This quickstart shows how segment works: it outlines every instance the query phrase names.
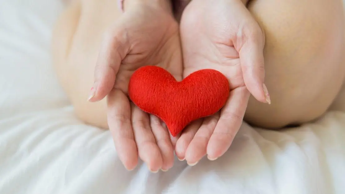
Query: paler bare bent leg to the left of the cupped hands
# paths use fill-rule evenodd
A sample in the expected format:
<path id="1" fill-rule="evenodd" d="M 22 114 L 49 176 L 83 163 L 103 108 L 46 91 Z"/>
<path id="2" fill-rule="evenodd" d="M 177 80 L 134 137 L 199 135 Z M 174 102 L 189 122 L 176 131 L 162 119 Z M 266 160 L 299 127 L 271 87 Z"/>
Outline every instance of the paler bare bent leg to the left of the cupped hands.
<path id="1" fill-rule="evenodd" d="M 115 0 L 75 0 L 53 32 L 53 58 L 63 89 L 77 116 L 102 128 L 108 128 L 106 99 L 90 103 L 87 98 L 103 33 L 120 14 Z"/>

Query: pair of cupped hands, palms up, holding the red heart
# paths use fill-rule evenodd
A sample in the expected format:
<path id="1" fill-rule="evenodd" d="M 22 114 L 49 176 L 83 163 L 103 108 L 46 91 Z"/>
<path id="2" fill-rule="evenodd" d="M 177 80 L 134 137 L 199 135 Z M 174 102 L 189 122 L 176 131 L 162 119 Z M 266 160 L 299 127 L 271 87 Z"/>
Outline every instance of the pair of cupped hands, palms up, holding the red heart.
<path id="1" fill-rule="evenodd" d="M 139 156 L 150 171 L 167 171 L 174 150 L 189 165 L 205 155 L 215 160 L 227 151 L 242 124 L 250 93 L 270 103 L 263 84 L 264 35 L 242 1 L 193 0 L 180 26 L 169 2 L 158 1 L 125 4 L 126 11 L 105 35 L 89 99 L 107 96 L 109 129 L 128 170 L 136 167 Z M 229 99 L 215 115 L 171 137 L 162 121 L 128 99 L 130 76 L 145 65 L 158 65 L 178 81 L 200 69 L 218 70 L 230 83 Z"/>

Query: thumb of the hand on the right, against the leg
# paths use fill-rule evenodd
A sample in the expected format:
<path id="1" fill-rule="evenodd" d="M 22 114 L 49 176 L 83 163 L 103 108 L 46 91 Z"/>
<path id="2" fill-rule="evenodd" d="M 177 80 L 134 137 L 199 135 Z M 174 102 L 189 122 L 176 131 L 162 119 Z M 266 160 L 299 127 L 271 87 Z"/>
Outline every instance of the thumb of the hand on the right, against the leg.
<path id="1" fill-rule="evenodd" d="M 247 89 L 258 101 L 270 104 L 267 87 L 264 84 L 264 38 L 260 28 L 248 32 L 239 50 L 244 82 Z"/>

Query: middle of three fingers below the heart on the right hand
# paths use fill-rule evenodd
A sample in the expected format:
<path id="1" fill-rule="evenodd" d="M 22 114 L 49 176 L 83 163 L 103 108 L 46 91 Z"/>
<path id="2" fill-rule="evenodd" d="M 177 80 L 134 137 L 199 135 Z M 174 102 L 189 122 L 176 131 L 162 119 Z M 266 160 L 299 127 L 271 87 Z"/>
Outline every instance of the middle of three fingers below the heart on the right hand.
<path id="1" fill-rule="evenodd" d="M 219 112 L 204 119 L 203 124 L 200 126 L 194 135 L 193 140 L 188 145 L 185 154 L 188 165 L 196 165 L 199 160 L 206 155 L 207 144 L 217 125 L 218 119 Z"/>

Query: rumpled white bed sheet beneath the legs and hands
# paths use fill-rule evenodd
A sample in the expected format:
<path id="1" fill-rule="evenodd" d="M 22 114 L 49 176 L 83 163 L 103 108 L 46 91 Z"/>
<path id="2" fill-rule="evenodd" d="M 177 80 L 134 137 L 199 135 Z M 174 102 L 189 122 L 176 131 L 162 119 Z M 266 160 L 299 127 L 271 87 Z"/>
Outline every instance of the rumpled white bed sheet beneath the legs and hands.
<path id="1" fill-rule="evenodd" d="M 345 113 L 283 132 L 243 124 L 229 151 L 127 172 L 109 131 L 74 116 L 53 73 L 58 0 L 0 0 L 1 194 L 344 194 Z"/>

